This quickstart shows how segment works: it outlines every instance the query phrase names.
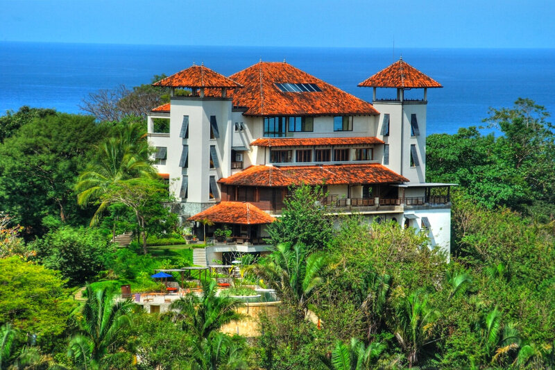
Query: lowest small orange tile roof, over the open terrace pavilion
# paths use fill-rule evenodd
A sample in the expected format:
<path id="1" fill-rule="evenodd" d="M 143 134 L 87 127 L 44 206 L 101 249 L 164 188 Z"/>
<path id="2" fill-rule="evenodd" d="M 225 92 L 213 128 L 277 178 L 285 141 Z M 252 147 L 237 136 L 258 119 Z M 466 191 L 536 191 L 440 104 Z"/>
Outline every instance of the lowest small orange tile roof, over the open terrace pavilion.
<path id="1" fill-rule="evenodd" d="M 203 212 L 189 217 L 188 221 L 210 219 L 219 224 L 271 224 L 275 218 L 268 215 L 255 205 L 244 202 L 221 202 Z"/>

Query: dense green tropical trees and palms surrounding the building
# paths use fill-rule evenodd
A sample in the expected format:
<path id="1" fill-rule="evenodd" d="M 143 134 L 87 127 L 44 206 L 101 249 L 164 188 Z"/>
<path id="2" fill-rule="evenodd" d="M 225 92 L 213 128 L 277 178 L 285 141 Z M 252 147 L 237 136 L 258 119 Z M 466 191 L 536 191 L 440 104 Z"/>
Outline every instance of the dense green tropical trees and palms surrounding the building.
<path id="1" fill-rule="evenodd" d="M 110 121 L 28 107 L 0 117 L 0 369 L 555 367 L 555 133 L 543 107 L 518 99 L 486 128 L 428 137 L 427 180 L 459 183 L 450 255 L 411 228 L 329 217 L 323 188 L 300 186 L 270 227 L 273 251 L 239 258 L 247 283 L 220 294 L 196 274 L 196 294 L 146 314 L 120 285 L 161 289 L 153 271 L 191 265 L 192 252 L 169 246 L 185 241 L 133 117 L 146 89 L 133 91 Z M 123 232 L 133 242 L 114 244 Z M 223 333 L 245 319 L 232 295 L 255 284 L 280 305 L 259 314 L 257 337 Z"/>

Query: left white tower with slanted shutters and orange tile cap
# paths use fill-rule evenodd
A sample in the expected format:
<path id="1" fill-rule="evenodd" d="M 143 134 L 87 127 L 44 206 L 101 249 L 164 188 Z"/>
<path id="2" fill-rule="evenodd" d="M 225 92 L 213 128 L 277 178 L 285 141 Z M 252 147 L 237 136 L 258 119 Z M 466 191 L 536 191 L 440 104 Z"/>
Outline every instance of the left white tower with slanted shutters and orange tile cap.
<path id="1" fill-rule="evenodd" d="M 194 215 L 220 200 L 217 181 L 231 175 L 232 101 L 228 90 L 241 87 L 204 65 L 192 65 L 157 81 L 170 87 L 169 104 L 148 119 L 157 167 L 170 181 L 180 212 Z M 176 89 L 190 90 L 176 96 Z M 156 119 L 169 119 L 169 132 L 157 133 Z"/>

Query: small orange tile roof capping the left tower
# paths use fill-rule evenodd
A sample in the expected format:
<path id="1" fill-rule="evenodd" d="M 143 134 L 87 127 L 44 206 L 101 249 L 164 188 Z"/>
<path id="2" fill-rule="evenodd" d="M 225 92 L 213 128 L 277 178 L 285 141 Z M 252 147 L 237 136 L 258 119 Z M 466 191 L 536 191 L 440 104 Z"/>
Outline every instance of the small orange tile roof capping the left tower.
<path id="1" fill-rule="evenodd" d="M 153 83 L 153 86 L 167 87 L 228 87 L 230 89 L 241 87 L 239 83 L 230 78 L 212 71 L 204 65 L 192 65 L 187 69 L 163 78 Z"/>

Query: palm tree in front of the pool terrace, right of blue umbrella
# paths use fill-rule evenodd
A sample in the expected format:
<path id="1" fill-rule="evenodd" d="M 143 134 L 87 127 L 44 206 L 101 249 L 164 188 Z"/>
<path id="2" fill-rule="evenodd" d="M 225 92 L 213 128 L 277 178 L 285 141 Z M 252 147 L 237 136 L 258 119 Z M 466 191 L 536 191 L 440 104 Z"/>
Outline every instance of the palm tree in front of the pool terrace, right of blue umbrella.
<path id="1" fill-rule="evenodd" d="M 231 321 L 243 318 L 235 309 L 241 305 L 237 299 L 216 295 L 216 281 L 203 283 L 202 296 L 189 293 L 170 305 L 174 321 L 181 321 L 184 330 L 189 329 L 196 339 L 207 339 L 211 333 Z"/>

